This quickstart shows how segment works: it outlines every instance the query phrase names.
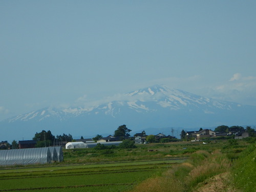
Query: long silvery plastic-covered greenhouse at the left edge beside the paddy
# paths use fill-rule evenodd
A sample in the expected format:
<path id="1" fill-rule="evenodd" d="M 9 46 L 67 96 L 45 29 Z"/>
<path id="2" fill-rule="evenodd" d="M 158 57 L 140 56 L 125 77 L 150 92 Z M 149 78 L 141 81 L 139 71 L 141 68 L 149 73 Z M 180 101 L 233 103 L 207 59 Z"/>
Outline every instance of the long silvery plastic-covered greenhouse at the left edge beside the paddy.
<path id="1" fill-rule="evenodd" d="M 51 160 L 49 147 L 0 151 L 0 165 L 43 164 L 51 163 Z"/>

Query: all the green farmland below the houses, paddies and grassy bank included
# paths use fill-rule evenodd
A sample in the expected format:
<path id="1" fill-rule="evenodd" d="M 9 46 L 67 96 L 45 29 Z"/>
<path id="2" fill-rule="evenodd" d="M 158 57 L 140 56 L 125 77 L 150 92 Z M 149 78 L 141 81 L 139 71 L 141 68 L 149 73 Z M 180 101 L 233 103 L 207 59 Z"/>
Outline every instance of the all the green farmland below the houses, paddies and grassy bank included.
<path id="1" fill-rule="evenodd" d="M 225 178 L 218 184 L 222 188 L 216 184 L 213 191 L 250 191 L 250 186 L 239 188 L 254 182 L 254 143 L 223 140 L 64 150 L 65 162 L 1 167 L 0 191 L 204 191 L 210 179 L 218 177 Z M 241 168 L 247 181 L 241 174 L 239 179 L 233 176 Z"/>

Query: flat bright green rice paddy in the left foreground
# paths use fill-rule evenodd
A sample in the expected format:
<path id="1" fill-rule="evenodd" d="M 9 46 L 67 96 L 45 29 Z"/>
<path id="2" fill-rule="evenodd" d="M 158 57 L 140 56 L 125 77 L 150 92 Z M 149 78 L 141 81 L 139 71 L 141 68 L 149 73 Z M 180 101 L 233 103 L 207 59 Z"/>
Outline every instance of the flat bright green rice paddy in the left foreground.
<path id="1" fill-rule="evenodd" d="M 0 191 L 123 191 L 183 159 L 0 169 Z"/>

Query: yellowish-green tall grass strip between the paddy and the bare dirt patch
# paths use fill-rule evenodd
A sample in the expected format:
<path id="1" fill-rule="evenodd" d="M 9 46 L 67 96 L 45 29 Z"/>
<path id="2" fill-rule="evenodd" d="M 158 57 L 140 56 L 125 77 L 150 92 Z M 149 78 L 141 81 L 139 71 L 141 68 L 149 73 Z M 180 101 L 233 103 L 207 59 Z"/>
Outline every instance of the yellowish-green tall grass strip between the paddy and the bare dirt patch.
<path id="1" fill-rule="evenodd" d="M 225 173 L 229 168 L 230 160 L 219 151 L 197 151 L 185 163 L 168 169 L 161 176 L 145 180 L 132 191 L 193 191 L 198 183 Z"/>

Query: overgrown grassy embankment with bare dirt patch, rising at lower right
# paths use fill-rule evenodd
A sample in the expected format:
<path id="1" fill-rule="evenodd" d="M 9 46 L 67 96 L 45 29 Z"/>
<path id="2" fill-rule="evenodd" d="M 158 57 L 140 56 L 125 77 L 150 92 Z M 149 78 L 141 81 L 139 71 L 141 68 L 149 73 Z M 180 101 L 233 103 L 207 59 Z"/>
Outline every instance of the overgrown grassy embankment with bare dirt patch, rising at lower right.
<path id="1" fill-rule="evenodd" d="M 184 163 L 144 180 L 130 192 L 256 191 L 256 145 L 230 143 L 213 152 L 199 150 Z"/>

